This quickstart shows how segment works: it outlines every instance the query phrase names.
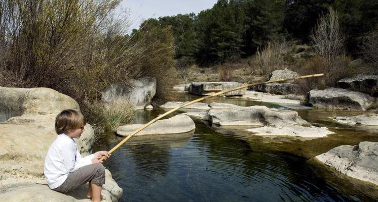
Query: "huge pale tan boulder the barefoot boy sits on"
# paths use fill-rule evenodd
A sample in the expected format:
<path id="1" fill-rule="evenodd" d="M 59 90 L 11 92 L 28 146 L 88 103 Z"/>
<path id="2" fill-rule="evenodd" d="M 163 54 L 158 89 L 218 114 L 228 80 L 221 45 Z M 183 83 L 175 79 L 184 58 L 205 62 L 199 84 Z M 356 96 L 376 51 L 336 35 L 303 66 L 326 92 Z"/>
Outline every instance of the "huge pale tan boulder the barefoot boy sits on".
<path id="1" fill-rule="evenodd" d="M 0 114 L 10 117 L 0 123 L 0 192 L 7 201 L 61 201 L 66 197 L 47 187 L 43 175 L 45 157 L 56 139 L 55 117 L 63 109 L 80 110 L 75 100 L 48 88 L 0 88 Z M 11 102 L 8 104 L 8 102 Z M 87 124 L 80 139 L 75 139 L 83 156 L 92 153 L 94 131 Z M 122 189 L 106 176 L 104 193 L 117 201 Z M 35 182 L 42 183 L 36 184 Z M 39 191 L 44 192 L 38 195 Z M 85 196 L 87 189 L 79 191 Z M 120 194 L 121 191 L 121 194 Z M 58 194 L 57 194 L 58 193 Z M 56 198 L 55 198 L 56 197 Z M 109 197 L 110 198 L 110 197 Z M 68 201 L 78 199 L 69 198 Z"/>

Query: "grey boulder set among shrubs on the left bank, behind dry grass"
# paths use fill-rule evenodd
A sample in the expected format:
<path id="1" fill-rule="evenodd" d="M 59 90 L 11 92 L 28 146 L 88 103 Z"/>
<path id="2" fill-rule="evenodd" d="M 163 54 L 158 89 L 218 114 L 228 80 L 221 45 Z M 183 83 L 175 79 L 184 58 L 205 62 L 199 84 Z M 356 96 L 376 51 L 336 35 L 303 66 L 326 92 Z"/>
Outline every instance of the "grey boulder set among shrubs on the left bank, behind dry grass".
<path id="1" fill-rule="evenodd" d="M 141 77 L 138 79 L 129 79 L 127 83 L 117 83 L 101 93 L 102 100 L 109 103 L 112 100 L 127 99 L 135 106 L 134 109 L 144 109 L 156 93 L 156 78 Z"/>

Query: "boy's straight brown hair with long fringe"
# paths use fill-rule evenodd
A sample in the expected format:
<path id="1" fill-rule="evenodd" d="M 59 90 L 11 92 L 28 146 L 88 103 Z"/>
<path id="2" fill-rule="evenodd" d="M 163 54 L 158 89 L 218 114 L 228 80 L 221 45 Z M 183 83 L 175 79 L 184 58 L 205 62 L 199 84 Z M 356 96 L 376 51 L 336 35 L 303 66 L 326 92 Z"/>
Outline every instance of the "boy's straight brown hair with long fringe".
<path id="1" fill-rule="evenodd" d="M 56 116 L 55 131 L 59 135 L 67 133 L 68 130 L 82 128 L 87 124 L 87 120 L 82 113 L 76 110 L 63 110 Z"/>

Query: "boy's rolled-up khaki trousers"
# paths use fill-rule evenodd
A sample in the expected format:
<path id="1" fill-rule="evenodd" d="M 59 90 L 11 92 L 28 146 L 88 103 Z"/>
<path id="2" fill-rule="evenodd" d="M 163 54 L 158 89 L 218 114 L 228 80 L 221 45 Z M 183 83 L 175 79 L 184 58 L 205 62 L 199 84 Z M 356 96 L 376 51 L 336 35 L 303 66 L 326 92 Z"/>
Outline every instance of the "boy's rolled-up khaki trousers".
<path id="1" fill-rule="evenodd" d="M 105 168 L 102 164 L 97 163 L 83 166 L 72 173 L 68 173 L 68 177 L 63 184 L 53 190 L 67 193 L 87 182 L 100 186 L 105 183 Z"/>

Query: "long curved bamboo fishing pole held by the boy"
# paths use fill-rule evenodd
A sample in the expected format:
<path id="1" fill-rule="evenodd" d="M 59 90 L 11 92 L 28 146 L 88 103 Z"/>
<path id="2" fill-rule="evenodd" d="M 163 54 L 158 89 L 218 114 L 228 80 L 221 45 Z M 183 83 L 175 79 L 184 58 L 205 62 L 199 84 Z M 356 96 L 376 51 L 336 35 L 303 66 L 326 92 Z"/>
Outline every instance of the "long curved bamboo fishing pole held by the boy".
<path id="1" fill-rule="evenodd" d="M 224 93 L 228 93 L 228 92 L 231 92 L 231 91 L 234 91 L 234 90 L 239 90 L 239 89 L 243 89 L 243 88 L 246 88 L 246 87 L 249 87 L 249 86 L 254 86 L 254 85 L 259 85 L 259 84 L 267 84 L 267 83 L 275 83 L 275 82 L 280 82 L 280 81 L 290 81 L 290 80 L 297 80 L 297 79 L 303 79 L 303 78 L 311 78 L 311 77 L 319 77 L 319 76 L 324 76 L 324 74 L 311 74 L 311 75 L 305 75 L 305 76 L 297 76 L 297 77 L 292 77 L 292 78 L 287 78 L 287 79 L 277 79 L 277 80 L 273 80 L 273 81 L 266 81 L 266 82 L 260 82 L 260 83 L 251 83 L 251 84 L 246 84 L 246 85 L 242 85 L 242 86 L 239 86 L 237 88 L 233 88 L 233 89 L 230 89 L 230 90 L 223 90 L 223 91 L 220 91 L 220 92 L 213 92 L 211 93 L 210 95 L 207 95 L 207 96 L 204 96 L 204 97 L 201 97 L 201 98 L 198 98 L 198 99 L 195 99 L 195 100 L 192 100 L 191 102 L 188 102 L 188 103 L 185 103 L 185 104 L 182 104 L 181 106 L 179 107 L 176 107 L 172 110 L 169 110 L 168 112 L 162 114 L 162 115 L 159 115 L 158 117 L 156 117 L 155 119 L 149 121 L 148 123 L 144 124 L 142 127 L 140 127 L 139 129 L 135 130 L 133 133 L 131 133 L 131 135 L 127 136 L 125 139 L 123 139 L 120 143 L 118 143 L 115 147 L 113 147 L 112 149 L 110 149 L 108 151 L 108 154 L 110 155 L 111 153 L 113 153 L 116 149 L 118 149 L 120 146 L 122 146 L 127 140 L 129 140 L 132 136 L 134 136 L 135 134 L 137 134 L 138 132 L 140 132 L 141 130 L 143 130 L 144 128 L 148 127 L 149 125 L 155 123 L 156 121 L 164 118 L 165 116 L 171 114 L 172 112 L 175 112 L 177 111 L 178 109 L 181 109 L 183 107 L 186 107 L 188 105 L 192 105 L 194 103 L 198 103 L 202 100 L 205 100 L 205 99 L 208 99 L 210 97 L 215 97 L 215 96 L 218 96 L 218 95 L 221 95 L 221 94 L 224 94 Z M 100 160 L 104 160 L 104 156 L 101 157 Z"/>

